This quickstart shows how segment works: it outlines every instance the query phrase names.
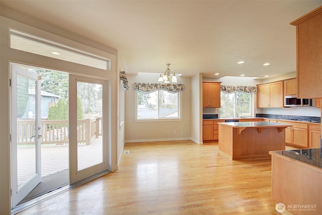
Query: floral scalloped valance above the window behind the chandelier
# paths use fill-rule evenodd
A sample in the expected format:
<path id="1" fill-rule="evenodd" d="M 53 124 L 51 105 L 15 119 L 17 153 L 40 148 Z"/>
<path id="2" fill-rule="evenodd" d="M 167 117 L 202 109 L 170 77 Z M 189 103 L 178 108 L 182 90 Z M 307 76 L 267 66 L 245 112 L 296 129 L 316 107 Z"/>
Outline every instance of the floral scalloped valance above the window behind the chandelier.
<path id="1" fill-rule="evenodd" d="M 157 90 L 165 90 L 169 93 L 178 93 L 183 91 L 183 84 L 155 84 L 155 83 L 134 83 L 134 90 L 140 91 L 142 93 L 150 93 Z"/>

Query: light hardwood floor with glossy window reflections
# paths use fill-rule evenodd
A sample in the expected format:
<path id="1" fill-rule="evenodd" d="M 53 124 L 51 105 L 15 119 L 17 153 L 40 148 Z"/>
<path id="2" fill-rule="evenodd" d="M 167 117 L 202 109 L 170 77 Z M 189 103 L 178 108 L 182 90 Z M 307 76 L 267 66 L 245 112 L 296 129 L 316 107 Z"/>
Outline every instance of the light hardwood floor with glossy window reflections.
<path id="1" fill-rule="evenodd" d="M 280 214 L 271 161 L 231 161 L 217 144 L 125 144 L 119 169 L 19 214 Z"/>

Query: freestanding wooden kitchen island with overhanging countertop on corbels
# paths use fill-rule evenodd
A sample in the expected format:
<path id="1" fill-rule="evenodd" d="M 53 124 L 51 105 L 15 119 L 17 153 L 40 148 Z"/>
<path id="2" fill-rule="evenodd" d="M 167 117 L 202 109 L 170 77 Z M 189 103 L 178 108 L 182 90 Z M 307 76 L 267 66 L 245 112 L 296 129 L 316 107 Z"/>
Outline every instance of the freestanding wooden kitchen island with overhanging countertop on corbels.
<path id="1" fill-rule="evenodd" d="M 221 154 L 232 160 L 270 159 L 269 151 L 285 150 L 285 128 L 276 122 L 220 122 L 218 145 Z"/>

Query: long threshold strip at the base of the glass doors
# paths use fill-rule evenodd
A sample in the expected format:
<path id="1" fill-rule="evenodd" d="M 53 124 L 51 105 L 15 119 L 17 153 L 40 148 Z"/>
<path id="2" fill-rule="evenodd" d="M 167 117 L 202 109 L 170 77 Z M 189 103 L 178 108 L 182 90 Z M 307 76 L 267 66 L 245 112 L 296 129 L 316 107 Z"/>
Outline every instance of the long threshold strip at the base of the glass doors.
<path id="1" fill-rule="evenodd" d="M 41 203 L 41 202 L 43 202 L 43 201 L 46 201 L 46 200 L 48 200 L 48 199 L 50 199 L 50 198 L 52 198 L 52 197 L 55 197 L 55 196 L 57 196 L 57 195 L 59 195 L 59 194 L 61 194 L 61 193 L 64 193 L 64 192 L 66 192 L 66 191 L 68 191 L 68 190 L 71 190 L 71 189 L 73 189 L 73 188 L 75 188 L 75 187 L 81 186 L 82 184 L 85 184 L 85 183 L 87 183 L 87 182 L 89 182 L 89 181 L 92 181 L 92 180 L 94 180 L 94 179 L 96 179 L 96 178 L 99 178 L 99 177 L 101 177 L 101 176 L 103 176 L 103 175 L 106 175 L 106 174 L 108 174 L 108 173 L 110 173 L 110 172 L 111 172 L 111 171 L 109 171 L 109 170 L 106 170 L 106 171 L 100 172 L 100 173 L 98 173 L 98 174 L 96 174 L 96 175 L 93 175 L 93 176 L 91 176 L 91 177 L 89 177 L 89 178 L 86 178 L 86 179 L 84 179 L 84 180 L 82 180 L 82 181 L 78 181 L 78 182 L 76 182 L 76 183 L 74 183 L 74 184 L 72 184 L 72 185 L 66 185 L 66 186 L 64 186 L 64 187 L 62 187 L 62 188 L 59 188 L 59 189 L 57 189 L 57 190 L 54 190 L 54 191 L 52 191 L 52 192 L 49 192 L 49 193 L 47 193 L 47 194 L 44 194 L 44 195 L 39 196 L 39 197 L 37 197 L 37 198 L 34 198 L 34 199 L 30 200 L 30 201 L 27 201 L 27 202 L 25 202 L 25 203 L 19 204 L 19 205 L 17 205 L 15 208 L 13 208 L 13 209 L 11 210 L 11 214 L 12 214 L 12 215 L 17 214 L 17 213 L 19 213 L 19 212 L 21 212 L 21 211 L 23 211 L 23 210 L 25 210 L 25 209 L 28 209 L 28 208 L 30 208 L 30 207 L 32 207 L 32 206 L 34 206 L 34 205 L 36 205 L 36 204 L 39 204 L 39 203 Z"/>

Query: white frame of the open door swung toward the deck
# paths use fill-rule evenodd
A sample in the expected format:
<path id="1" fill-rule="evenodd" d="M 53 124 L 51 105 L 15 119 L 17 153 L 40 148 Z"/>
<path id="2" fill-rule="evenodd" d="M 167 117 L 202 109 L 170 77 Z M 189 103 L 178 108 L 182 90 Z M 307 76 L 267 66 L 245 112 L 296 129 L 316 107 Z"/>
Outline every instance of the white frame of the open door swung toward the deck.
<path id="1" fill-rule="evenodd" d="M 40 86 L 41 76 L 38 76 L 27 69 L 12 64 L 11 66 L 11 208 L 14 208 L 23 198 L 25 198 L 41 181 L 41 129 L 40 129 Z M 17 169 L 17 76 L 22 76 L 36 81 L 36 116 L 35 116 L 35 148 L 36 148 L 36 172 L 25 183 L 18 187 Z M 37 129 L 39 128 L 39 129 Z"/>

